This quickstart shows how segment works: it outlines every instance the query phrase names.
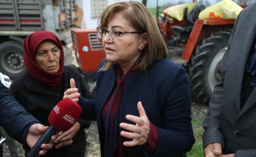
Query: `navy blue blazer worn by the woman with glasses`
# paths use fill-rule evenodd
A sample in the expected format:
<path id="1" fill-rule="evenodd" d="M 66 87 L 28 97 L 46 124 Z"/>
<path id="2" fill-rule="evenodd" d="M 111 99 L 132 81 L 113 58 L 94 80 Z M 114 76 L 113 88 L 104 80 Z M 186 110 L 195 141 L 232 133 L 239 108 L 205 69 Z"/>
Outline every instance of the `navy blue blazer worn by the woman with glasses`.
<path id="1" fill-rule="evenodd" d="M 100 63 L 99 68 L 103 63 L 104 61 Z M 97 121 L 101 154 L 104 151 L 105 140 L 101 112 L 115 83 L 116 65 L 107 71 L 97 73 L 95 100 L 81 97 L 79 101 L 82 107 L 81 117 Z M 139 116 L 139 101 L 142 102 L 148 119 L 158 129 L 158 145 L 153 155 L 142 146 L 126 147 L 126 157 L 169 157 L 190 151 L 195 139 L 191 124 L 190 86 L 183 67 L 164 58 L 152 63 L 145 71 L 126 76 L 122 100 L 123 116 Z M 126 119 L 124 123 L 134 124 Z"/>

